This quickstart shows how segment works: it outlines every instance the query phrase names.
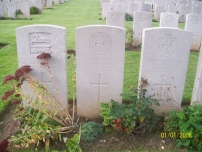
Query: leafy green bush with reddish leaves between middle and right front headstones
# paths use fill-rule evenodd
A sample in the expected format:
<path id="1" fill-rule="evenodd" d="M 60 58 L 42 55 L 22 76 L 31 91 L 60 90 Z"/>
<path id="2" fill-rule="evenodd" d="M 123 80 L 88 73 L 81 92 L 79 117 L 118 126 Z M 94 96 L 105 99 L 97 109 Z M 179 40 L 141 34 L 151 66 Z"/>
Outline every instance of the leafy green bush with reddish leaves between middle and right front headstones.
<path id="1" fill-rule="evenodd" d="M 144 84 L 146 80 L 143 80 Z M 129 134 L 139 129 L 155 130 L 158 128 L 159 117 L 150 108 L 150 105 L 159 103 L 151 96 L 145 96 L 145 89 L 131 88 L 130 93 L 121 94 L 130 103 L 121 103 L 112 100 L 110 103 L 100 103 L 103 125 L 112 125 L 116 130 L 124 131 Z"/>

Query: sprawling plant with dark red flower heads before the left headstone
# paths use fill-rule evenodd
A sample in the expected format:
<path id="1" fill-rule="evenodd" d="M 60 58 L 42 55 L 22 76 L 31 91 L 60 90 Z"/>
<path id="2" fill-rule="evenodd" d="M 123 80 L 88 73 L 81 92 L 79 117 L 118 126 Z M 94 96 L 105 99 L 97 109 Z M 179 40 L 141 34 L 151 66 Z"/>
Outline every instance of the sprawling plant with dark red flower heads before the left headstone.
<path id="1" fill-rule="evenodd" d="M 10 83 L 12 89 L 8 90 L 1 99 L 4 101 L 22 97 L 24 103 L 31 106 L 25 109 L 20 107 L 20 110 L 17 111 L 18 117 L 12 127 L 20 127 L 19 133 L 15 136 L 13 135 L 9 140 L 15 148 L 26 148 L 31 144 L 38 145 L 39 141 L 44 141 L 45 146 L 49 147 L 50 139 L 57 139 L 56 136 L 58 134 L 71 132 L 77 127 L 77 123 L 74 123 L 75 111 L 73 110 L 71 115 L 60 100 L 60 94 L 49 66 L 50 58 L 51 55 L 48 53 L 42 53 L 37 56 L 37 59 L 42 60 L 41 65 L 45 66 L 50 74 L 54 89 L 57 92 L 56 95 L 52 95 L 43 84 L 40 84 L 29 75 L 29 72 L 33 69 L 28 65 L 16 70 L 14 76 L 8 75 L 4 78 L 3 84 Z M 25 81 L 30 84 L 30 88 L 35 92 L 36 99 L 29 97 L 20 89 L 20 86 Z M 60 108 L 60 113 L 58 113 L 58 108 Z M 49 122 L 45 122 L 47 119 L 57 122 L 57 125 L 51 125 Z"/>

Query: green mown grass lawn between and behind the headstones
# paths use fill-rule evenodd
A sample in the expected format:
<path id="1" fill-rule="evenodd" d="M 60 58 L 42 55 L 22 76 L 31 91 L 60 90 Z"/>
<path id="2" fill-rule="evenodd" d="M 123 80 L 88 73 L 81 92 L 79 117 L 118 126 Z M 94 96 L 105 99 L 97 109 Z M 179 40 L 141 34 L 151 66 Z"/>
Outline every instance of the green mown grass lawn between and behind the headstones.
<path id="1" fill-rule="evenodd" d="M 70 0 L 67 3 L 54 6 L 52 9 L 43 9 L 42 14 L 31 15 L 31 20 L 1 20 L 0 43 L 8 44 L 0 49 L 0 82 L 4 76 L 14 74 L 18 67 L 15 29 L 32 24 L 51 24 L 66 27 L 67 49 L 75 49 L 75 28 L 87 25 L 105 24 L 101 18 L 99 0 Z M 126 21 L 125 27 L 132 28 L 132 21 Z M 153 22 L 153 27 L 158 27 L 159 22 Z M 184 28 L 184 23 L 179 23 L 179 28 Z M 183 101 L 191 99 L 194 77 L 196 72 L 198 53 L 191 52 Z M 140 52 L 125 54 L 124 92 L 128 92 L 130 86 L 136 86 L 139 73 Z M 69 100 L 71 93 L 71 68 L 68 66 L 68 90 Z M 7 85 L 0 85 L 0 97 L 8 90 Z M 0 102 L 0 113 L 7 105 Z"/>

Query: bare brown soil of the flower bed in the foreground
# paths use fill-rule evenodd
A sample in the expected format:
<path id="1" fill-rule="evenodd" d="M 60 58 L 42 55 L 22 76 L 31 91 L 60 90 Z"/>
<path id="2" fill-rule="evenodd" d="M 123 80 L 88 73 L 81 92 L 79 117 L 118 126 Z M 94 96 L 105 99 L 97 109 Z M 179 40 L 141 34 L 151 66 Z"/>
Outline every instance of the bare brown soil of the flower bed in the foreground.
<path id="1" fill-rule="evenodd" d="M 9 126 L 13 122 L 15 117 L 15 106 L 8 105 L 7 108 L 0 116 L 0 143 L 3 139 L 9 137 Z M 89 121 L 85 118 L 80 118 L 78 123 Z M 101 119 L 94 120 L 101 123 Z M 106 128 L 106 127 L 105 127 Z M 113 152 L 113 151 L 131 151 L 131 152 L 148 152 L 148 151 L 164 151 L 164 152 L 186 152 L 186 149 L 179 149 L 175 147 L 175 141 L 171 138 L 161 138 L 161 132 L 156 133 L 131 133 L 125 135 L 121 132 L 114 130 L 112 127 L 107 127 L 110 132 L 103 131 L 95 141 L 87 142 L 80 141 L 80 146 L 83 152 Z M 72 132 L 67 136 L 69 138 L 77 133 Z M 54 146 L 52 146 L 54 145 Z M 65 150 L 65 144 L 63 142 L 51 143 L 51 149 Z M 44 149 L 44 145 L 41 145 L 38 149 Z"/>

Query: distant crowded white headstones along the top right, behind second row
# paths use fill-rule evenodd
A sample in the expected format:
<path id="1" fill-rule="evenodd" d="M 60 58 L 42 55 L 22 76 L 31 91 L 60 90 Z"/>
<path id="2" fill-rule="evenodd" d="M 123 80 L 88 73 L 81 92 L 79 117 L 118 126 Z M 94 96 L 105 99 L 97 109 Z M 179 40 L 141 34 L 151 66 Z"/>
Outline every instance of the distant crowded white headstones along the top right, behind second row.
<path id="1" fill-rule="evenodd" d="M 197 1 L 193 4 L 190 3 L 180 3 L 180 1 L 155 1 L 154 3 L 143 3 L 142 1 L 102 1 L 102 19 L 106 18 L 106 12 L 110 10 L 122 11 L 129 13 L 133 16 L 136 11 L 147 11 L 151 12 L 152 6 L 154 9 L 154 19 L 159 21 L 160 14 L 163 12 L 179 13 L 179 22 L 185 22 L 185 17 L 187 14 L 195 13 L 202 14 L 202 3 Z M 114 7 L 113 7 L 114 6 Z"/>

